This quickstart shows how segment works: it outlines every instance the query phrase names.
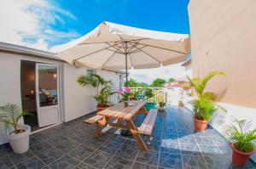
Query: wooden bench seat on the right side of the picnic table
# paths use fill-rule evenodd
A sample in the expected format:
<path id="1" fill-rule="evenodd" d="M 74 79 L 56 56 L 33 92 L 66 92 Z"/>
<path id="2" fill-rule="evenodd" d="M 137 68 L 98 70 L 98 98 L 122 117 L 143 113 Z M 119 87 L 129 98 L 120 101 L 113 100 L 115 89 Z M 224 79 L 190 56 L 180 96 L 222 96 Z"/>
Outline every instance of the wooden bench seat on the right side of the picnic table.
<path id="1" fill-rule="evenodd" d="M 140 134 L 143 134 L 145 136 L 151 136 L 157 111 L 158 111 L 157 109 L 149 110 L 147 117 L 143 121 L 143 124 L 141 125 L 141 127 L 138 127 L 138 132 Z"/>

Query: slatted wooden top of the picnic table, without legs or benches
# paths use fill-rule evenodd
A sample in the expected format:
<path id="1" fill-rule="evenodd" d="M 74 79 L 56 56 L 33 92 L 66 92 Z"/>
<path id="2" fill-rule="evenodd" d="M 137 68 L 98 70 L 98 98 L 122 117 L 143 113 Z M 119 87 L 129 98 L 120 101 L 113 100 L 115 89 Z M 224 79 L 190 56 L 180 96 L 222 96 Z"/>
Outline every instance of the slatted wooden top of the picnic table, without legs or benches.
<path id="1" fill-rule="evenodd" d="M 116 104 L 109 107 L 106 110 L 102 110 L 97 115 L 103 115 L 113 119 L 131 120 L 131 118 L 137 114 L 137 111 L 142 109 L 145 102 L 143 101 L 130 101 L 128 107 L 125 107 L 124 103 Z"/>

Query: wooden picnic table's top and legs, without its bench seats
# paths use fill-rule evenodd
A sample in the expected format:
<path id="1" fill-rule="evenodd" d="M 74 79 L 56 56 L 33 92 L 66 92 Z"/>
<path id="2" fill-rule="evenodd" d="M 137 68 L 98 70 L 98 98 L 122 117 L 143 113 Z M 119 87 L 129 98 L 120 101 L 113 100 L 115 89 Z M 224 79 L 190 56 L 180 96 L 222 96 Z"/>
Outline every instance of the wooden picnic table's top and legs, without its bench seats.
<path id="1" fill-rule="evenodd" d="M 120 129 L 127 129 L 131 131 L 133 137 L 136 139 L 138 147 L 143 150 L 148 150 L 140 135 L 141 133 L 132 121 L 132 118 L 137 114 L 148 115 L 148 111 L 144 107 L 145 102 L 130 101 L 129 104 L 128 107 L 125 107 L 124 103 L 120 103 L 109 107 L 106 110 L 99 111 L 97 115 L 102 115 L 102 121 L 99 121 L 96 137 L 101 136 L 102 129 L 107 125 Z M 121 121 L 125 121 L 125 124 Z"/>

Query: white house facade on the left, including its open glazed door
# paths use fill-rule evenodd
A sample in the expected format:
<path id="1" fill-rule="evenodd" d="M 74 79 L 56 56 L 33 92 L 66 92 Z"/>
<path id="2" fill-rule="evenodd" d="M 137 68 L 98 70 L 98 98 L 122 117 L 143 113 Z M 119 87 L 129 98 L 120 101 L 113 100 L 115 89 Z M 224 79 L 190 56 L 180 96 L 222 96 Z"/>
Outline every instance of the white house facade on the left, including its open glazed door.
<path id="1" fill-rule="evenodd" d="M 90 69 L 69 65 L 52 53 L 3 42 L 0 59 L 0 105 L 19 104 L 35 114 L 34 119 L 24 118 L 20 123 L 34 125 L 33 130 L 38 130 L 96 111 L 96 102 L 91 98 L 94 90 L 77 82 Z M 113 87 L 124 83 L 120 71 L 94 71 L 111 80 Z M 6 141 L 1 130 L 0 144 Z"/>

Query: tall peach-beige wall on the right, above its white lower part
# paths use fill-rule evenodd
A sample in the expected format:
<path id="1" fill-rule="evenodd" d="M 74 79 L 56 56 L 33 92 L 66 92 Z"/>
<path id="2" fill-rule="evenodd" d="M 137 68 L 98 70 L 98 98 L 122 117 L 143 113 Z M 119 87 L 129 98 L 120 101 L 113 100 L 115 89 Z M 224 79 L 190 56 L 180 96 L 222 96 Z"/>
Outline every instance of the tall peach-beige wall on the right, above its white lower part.
<path id="1" fill-rule="evenodd" d="M 255 8 L 255 0 L 189 3 L 193 76 L 226 72 L 212 79 L 207 90 L 218 93 L 222 102 L 249 108 L 256 108 Z"/>

